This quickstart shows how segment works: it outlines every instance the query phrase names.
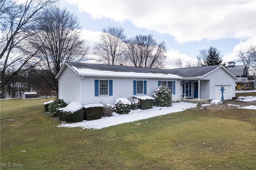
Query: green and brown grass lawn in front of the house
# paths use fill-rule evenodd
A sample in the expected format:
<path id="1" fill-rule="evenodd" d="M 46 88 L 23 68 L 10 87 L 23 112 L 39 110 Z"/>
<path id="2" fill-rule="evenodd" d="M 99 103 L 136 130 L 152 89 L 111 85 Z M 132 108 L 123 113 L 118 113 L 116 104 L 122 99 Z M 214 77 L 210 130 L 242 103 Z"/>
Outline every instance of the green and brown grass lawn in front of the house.
<path id="1" fill-rule="evenodd" d="M 82 130 L 58 128 L 43 113 L 49 100 L 0 101 L 1 170 L 256 169 L 255 110 L 186 110 Z"/>

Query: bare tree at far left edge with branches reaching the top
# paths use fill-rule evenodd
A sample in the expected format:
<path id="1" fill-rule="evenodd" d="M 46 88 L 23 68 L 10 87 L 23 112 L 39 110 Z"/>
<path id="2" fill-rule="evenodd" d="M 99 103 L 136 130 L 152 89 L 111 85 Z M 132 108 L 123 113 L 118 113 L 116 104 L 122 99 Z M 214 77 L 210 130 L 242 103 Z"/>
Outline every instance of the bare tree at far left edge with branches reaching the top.
<path id="1" fill-rule="evenodd" d="M 28 38 L 37 31 L 34 22 L 40 15 L 36 14 L 55 2 L 56 0 L 27 0 L 25 3 L 0 1 L 1 89 L 4 89 L 12 77 L 30 69 L 31 59 L 38 51 L 26 53 L 28 51 L 25 49 L 29 49 Z"/>

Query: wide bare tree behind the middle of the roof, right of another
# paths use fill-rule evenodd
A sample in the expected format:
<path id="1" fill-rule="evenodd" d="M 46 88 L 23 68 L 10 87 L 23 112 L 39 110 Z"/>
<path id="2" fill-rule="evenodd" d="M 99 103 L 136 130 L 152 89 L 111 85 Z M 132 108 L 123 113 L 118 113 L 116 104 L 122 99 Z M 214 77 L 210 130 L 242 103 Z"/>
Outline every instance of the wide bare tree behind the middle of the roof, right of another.
<path id="1" fill-rule="evenodd" d="M 157 43 L 150 34 L 137 35 L 126 41 L 124 62 L 135 67 L 163 68 L 166 63 L 164 41 Z"/>

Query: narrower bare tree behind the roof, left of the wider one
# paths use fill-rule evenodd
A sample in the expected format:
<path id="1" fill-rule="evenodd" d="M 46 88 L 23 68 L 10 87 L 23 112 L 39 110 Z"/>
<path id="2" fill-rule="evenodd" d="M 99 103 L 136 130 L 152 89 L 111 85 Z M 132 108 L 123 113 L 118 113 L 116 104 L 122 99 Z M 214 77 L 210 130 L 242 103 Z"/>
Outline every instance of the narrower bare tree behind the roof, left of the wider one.
<path id="1" fill-rule="evenodd" d="M 99 42 L 94 45 L 94 55 L 98 55 L 100 57 L 98 61 L 104 64 L 116 65 L 120 63 L 125 39 L 123 28 L 103 28 Z"/>

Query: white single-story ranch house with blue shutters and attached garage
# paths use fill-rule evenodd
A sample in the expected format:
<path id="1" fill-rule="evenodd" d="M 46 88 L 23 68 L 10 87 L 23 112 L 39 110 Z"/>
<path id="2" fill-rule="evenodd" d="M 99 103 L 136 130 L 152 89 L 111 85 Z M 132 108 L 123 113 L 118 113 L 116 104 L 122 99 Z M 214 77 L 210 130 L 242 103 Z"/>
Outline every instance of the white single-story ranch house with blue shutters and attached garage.
<path id="1" fill-rule="evenodd" d="M 186 98 L 226 100 L 235 97 L 237 80 L 222 65 L 182 69 L 153 69 L 66 62 L 56 76 L 58 97 L 66 103 L 114 104 L 120 97 L 152 96 L 160 86 L 167 86 L 173 101 Z"/>

